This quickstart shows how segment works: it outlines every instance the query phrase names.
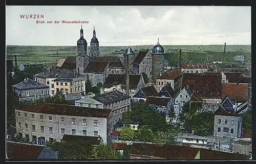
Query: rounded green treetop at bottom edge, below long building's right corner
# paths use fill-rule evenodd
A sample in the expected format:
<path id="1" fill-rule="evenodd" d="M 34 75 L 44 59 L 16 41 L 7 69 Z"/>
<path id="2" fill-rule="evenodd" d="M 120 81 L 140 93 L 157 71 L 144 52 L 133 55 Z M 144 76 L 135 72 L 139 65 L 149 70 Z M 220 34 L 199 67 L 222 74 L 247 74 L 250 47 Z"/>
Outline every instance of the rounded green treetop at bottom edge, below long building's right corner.
<path id="1" fill-rule="evenodd" d="M 99 145 L 94 148 L 92 157 L 93 159 L 121 159 L 122 155 L 108 145 Z"/>

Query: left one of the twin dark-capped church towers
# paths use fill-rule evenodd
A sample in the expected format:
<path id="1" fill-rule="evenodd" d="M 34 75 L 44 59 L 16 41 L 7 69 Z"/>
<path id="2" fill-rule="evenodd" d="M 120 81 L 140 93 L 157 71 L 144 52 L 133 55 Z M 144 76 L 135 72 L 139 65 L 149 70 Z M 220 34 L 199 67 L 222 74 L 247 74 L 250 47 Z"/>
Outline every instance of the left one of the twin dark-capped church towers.
<path id="1" fill-rule="evenodd" d="M 77 40 L 77 56 L 76 56 L 76 71 L 83 73 L 87 64 L 89 63 L 89 56 L 87 55 L 87 41 L 83 38 L 83 30 L 81 26 L 80 39 Z"/>

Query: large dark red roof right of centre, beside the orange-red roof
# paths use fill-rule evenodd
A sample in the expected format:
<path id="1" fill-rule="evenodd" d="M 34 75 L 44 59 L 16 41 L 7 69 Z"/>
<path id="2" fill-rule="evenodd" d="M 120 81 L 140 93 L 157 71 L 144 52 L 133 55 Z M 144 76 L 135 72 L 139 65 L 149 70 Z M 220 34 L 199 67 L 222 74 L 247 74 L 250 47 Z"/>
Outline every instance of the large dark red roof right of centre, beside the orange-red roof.
<path id="1" fill-rule="evenodd" d="M 197 74 L 193 89 L 200 98 L 221 98 L 221 86 L 220 73 Z"/>

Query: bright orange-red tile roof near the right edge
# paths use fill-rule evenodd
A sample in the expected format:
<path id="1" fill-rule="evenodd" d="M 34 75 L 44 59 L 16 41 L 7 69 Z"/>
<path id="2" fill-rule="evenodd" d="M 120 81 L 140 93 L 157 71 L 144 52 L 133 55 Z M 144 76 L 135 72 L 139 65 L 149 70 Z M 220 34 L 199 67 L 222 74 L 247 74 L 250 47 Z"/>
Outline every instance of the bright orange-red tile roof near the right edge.
<path id="1" fill-rule="evenodd" d="M 248 84 L 222 84 L 222 99 L 229 96 L 233 102 L 244 103 L 248 99 Z"/>

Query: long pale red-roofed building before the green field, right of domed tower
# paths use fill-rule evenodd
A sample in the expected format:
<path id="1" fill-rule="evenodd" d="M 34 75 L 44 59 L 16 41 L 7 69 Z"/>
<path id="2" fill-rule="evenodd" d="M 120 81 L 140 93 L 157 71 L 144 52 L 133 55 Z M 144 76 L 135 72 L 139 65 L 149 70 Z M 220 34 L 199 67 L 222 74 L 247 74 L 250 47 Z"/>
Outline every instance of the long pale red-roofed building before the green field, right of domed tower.
<path id="1" fill-rule="evenodd" d="M 204 73 L 208 71 L 208 69 L 214 69 L 217 68 L 216 64 L 213 63 L 197 63 L 197 64 L 191 64 L 191 63 L 182 63 L 181 64 L 181 71 L 183 73 Z"/>

